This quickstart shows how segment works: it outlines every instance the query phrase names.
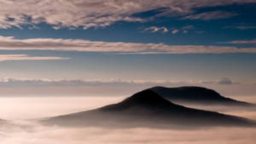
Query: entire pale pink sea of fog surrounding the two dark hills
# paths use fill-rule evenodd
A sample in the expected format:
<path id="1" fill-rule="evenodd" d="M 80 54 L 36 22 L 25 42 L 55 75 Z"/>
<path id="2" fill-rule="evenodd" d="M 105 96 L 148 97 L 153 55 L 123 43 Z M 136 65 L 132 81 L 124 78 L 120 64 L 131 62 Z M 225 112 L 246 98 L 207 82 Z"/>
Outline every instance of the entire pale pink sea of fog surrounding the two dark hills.
<path id="1" fill-rule="evenodd" d="M 95 109 L 105 104 L 119 102 L 124 97 L 11 97 L 0 98 L 0 117 L 9 119 L 8 125 L 0 125 L 1 144 L 254 144 L 256 129 L 239 127 L 213 127 L 198 129 L 106 129 L 102 127 L 42 126 L 36 121 L 24 121 L 51 117 L 78 111 Z M 253 97 L 236 97 L 255 102 Z M 256 120 L 252 110 L 226 109 L 222 106 L 197 106 L 222 113 Z"/>

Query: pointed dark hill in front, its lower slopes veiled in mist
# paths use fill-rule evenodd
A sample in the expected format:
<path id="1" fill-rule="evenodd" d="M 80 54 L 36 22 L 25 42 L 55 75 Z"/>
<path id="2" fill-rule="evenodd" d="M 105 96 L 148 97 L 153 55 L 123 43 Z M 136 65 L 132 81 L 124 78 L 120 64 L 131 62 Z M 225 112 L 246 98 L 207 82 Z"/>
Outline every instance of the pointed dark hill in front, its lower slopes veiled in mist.
<path id="1" fill-rule="evenodd" d="M 51 117 L 47 125 L 98 127 L 254 127 L 255 121 L 212 111 L 190 109 L 162 98 L 151 89 L 137 92 L 117 104 L 92 111 Z"/>

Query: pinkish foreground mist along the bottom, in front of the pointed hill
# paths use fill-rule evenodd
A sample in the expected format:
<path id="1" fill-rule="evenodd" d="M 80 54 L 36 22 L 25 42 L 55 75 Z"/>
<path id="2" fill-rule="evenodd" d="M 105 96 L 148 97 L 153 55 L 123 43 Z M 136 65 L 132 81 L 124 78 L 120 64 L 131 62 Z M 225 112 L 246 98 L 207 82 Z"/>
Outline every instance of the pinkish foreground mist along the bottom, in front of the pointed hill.
<path id="1" fill-rule="evenodd" d="M 19 122 L 0 128 L 3 144 L 84 144 L 84 143 L 232 143 L 254 144 L 256 129 L 207 128 L 207 129 L 106 129 L 100 127 L 72 128 L 45 127 L 38 123 Z"/>

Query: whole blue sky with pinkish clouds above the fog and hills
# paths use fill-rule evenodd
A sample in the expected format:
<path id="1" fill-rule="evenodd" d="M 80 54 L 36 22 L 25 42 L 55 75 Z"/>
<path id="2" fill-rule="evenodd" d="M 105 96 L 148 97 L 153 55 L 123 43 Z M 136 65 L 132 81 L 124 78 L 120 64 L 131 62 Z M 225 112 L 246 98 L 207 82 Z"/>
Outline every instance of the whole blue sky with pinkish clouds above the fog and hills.
<path id="1" fill-rule="evenodd" d="M 255 0 L 0 0 L 0 96 L 256 95 Z"/>

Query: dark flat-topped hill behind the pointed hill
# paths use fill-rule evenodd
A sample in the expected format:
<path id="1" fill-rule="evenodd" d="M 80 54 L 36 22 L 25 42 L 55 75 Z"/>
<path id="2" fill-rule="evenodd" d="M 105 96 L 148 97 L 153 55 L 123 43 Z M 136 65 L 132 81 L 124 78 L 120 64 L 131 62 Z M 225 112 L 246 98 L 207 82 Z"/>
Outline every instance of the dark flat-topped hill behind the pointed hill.
<path id="1" fill-rule="evenodd" d="M 225 106 L 255 106 L 249 102 L 234 100 L 220 95 L 215 90 L 197 86 L 183 86 L 178 88 L 165 88 L 156 86 L 150 88 L 163 98 L 171 100 L 172 102 L 191 102 L 194 104 L 216 104 Z"/>

